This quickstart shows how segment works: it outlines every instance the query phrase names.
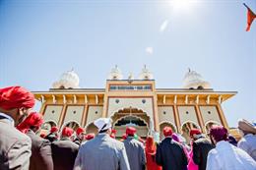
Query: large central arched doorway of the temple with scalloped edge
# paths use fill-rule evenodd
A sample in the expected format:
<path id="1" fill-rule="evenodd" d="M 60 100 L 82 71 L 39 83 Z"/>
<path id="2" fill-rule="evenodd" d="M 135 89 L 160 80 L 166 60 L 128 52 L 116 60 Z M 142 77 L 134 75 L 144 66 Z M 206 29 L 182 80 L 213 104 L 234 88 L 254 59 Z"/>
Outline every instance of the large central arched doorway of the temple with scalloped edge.
<path id="1" fill-rule="evenodd" d="M 137 108 L 124 108 L 114 113 L 111 117 L 113 122 L 113 129 L 117 131 L 116 138 L 121 138 L 125 133 L 126 127 L 132 126 L 136 128 L 137 135 L 146 139 L 151 134 L 150 117 Z"/>

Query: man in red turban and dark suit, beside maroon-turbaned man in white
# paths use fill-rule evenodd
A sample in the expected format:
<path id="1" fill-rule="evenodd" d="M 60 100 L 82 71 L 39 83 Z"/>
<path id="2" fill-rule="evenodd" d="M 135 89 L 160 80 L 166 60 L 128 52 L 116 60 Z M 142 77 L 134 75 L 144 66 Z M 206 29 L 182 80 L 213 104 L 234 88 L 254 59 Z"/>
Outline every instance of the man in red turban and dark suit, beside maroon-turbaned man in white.
<path id="1" fill-rule="evenodd" d="M 205 170 L 208 152 L 214 148 L 214 145 L 203 137 L 198 129 L 191 130 L 189 134 L 193 140 L 193 160 L 198 165 L 199 170 Z"/>

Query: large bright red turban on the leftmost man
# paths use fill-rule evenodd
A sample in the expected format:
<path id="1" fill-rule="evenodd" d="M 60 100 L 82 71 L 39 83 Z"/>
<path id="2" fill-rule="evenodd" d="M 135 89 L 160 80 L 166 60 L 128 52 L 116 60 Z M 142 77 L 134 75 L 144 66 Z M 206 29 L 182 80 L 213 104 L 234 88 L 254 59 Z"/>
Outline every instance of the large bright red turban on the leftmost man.
<path id="1" fill-rule="evenodd" d="M 14 108 L 32 108 L 34 96 L 32 92 L 22 86 L 8 86 L 0 88 L 0 107 L 5 110 Z"/>

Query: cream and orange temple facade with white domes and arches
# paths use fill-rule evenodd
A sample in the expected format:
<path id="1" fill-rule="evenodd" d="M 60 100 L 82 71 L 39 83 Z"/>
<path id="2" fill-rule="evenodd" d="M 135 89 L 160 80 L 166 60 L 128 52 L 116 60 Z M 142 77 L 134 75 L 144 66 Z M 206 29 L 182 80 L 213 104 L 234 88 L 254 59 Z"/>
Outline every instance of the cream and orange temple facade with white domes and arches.
<path id="1" fill-rule="evenodd" d="M 157 88 L 153 74 L 146 68 L 138 79 L 123 79 L 116 66 L 104 88 L 83 88 L 74 71 L 64 73 L 47 91 L 33 91 L 41 102 L 43 129 L 51 126 L 84 127 L 96 133 L 94 121 L 112 119 L 112 126 L 121 137 L 127 126 L 134 126 L 138 135 L 162 138 L 162 128 L 169 126 L 186 140 L 192 128 L 207 133 L 213 124 L 228 128 L 222 103 L 235 91 L 215 91 L 202 76 L 189 70 L 181 88 Z"/>

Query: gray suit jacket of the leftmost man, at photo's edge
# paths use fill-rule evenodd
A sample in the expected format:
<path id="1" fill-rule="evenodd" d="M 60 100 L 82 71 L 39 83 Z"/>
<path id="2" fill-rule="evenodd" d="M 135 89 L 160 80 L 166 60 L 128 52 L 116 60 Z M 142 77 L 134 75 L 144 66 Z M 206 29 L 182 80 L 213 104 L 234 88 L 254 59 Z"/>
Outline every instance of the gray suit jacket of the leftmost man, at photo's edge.
<path id="1" fill-rule="evenodd" d="M 32 154 L 32 141 L 18 131 L 12 122 L 0 118 L 0 169 L 28 170 Z"/>

